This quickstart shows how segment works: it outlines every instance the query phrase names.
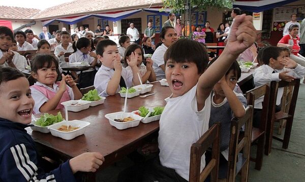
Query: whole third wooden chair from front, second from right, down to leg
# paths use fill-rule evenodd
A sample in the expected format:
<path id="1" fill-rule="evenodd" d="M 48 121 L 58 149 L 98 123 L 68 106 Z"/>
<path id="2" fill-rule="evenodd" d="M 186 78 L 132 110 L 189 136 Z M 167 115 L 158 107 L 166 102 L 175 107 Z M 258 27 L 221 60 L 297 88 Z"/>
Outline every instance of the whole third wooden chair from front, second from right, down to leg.
<path id="1" fill-rule="evenodd" d="M 252 136 L 251 136 L 251 144 L 254 144 L 257 141 L 256 158 L 251 158 L 251 161 L 255 162 L 255 169 L 257 170 L 261 169 L 263 163 L 264 143 L 266 137 L 265 133 L 268 122 L 269 95 L 270 95 L 270 89 L 267 84 L 249 90 L 246 93 L 246 97 L 249 105 L 254 105 L 255 99 L 264 96 L 264 100 L 262 103 L 263 107 L 261 112 L 260 127 L 259 128 L 253 127 Z"/>

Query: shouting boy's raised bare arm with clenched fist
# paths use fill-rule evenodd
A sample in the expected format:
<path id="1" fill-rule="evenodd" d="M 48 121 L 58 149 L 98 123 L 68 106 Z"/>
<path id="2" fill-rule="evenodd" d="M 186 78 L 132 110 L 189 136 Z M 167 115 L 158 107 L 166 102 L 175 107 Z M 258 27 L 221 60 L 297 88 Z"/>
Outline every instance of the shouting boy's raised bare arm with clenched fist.
<path id="1" fill-rule="evenodd" d="M 252 16 L 236 16 L 231 26 L 227 46 L 221 56 L 200 76 L 197 85 L 197 107 L 202 110 L 206 98 L 214 85 L 225 75 L 225 72 L 238 55 L 250 47 L 256 40 L 256 29 Z"/>

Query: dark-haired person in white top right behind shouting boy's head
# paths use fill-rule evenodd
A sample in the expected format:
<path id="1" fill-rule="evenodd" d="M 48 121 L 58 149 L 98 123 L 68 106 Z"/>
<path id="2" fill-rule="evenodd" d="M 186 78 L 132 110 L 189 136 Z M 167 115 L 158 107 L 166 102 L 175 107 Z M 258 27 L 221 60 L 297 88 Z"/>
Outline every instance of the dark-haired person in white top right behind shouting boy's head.
<path id="1" fill-rule="evenodd" d="M 165 64 L 164 54 L 167 48 L 177 41 L 177 33 L 173 27 L 163 27 L 160 33 L 160 40 L 162 45 L 159 46 L 153 54 L 151 59 L 154 60 L 153 68 L 157 77 L 157 80 L 165 78 Z"/>

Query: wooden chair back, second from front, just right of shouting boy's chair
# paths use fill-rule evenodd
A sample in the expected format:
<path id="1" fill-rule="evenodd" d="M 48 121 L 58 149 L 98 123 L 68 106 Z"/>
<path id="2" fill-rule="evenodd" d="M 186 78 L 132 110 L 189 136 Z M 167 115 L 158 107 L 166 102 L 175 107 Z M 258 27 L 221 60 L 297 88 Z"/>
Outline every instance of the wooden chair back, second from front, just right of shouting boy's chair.
<path id="1" fill-rule="evenodd" d="M 251 132 L 252 132 L 253 106 L 246 108 L 242 118 L 233 118 L 231 121 L 231 136 L 229 143 L 229 160 L 227 181 L 235 181 L 241 170 L 241 181 L 248 181 Z M 245 133 L 240 134 L 240 129 L 245 126 Z M 242 151 L 242 154 L 240 152 Z"/>

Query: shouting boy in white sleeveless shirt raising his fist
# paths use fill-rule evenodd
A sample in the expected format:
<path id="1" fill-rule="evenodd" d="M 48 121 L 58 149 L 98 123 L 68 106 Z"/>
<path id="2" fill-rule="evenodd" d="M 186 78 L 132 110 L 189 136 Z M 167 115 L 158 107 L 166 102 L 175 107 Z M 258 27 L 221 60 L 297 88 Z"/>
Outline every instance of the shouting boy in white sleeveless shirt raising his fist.
<path id="1" fill-rule="evenodd" d="M 238 40 L 237 40 L 238 38 Z M 121 173 L 118 181 L 188 181 L 190 151 L 208 129 L 210 115 L 210 93 L 214 85 L 224 76 L 237 56 L 256 39 L 252 17 L 235 17 L 226 48 L 210 67 L 203 46 L 193 40 L 181 39 L 169 46 L 164 60 L 166 80 L 172 95 L 160 119 L 158 144 L 147 144 L 143 153 L 157 152 L 157 158 L 139 170 Z M 201 158 L 200 171 L 205 166 Z M 123 175 L 122 175 L 123 174 Z M 135 177 L 135 178 L 134 178 Z"/>

